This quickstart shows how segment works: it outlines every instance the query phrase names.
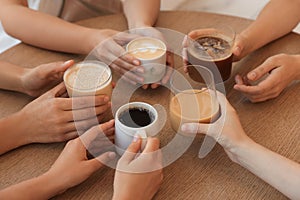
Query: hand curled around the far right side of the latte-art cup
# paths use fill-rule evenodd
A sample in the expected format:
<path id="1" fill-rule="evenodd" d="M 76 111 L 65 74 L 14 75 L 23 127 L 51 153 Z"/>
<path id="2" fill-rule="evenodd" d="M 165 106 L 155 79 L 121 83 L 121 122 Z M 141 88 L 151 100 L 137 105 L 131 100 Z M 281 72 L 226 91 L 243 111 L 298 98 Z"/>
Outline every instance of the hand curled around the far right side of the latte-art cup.
<path id="1" fill-rule="evenodd" d="M 136 35 L 140 35 L 140 36 L 145 36 L 145 37 L 156 38 L 156 39 L 159 39 L 159 40 L 163 41 L 166 44 L 168 50 L 166 52 L 166 65 L 167 65 L 167 69 L 166 69 L 165 76 L 161 79 L 160 82 L 153 83 L 151 85 L 144 84 L 142 86 L 142 88 L 146 90 L 150 86 L 152 89 L 156 89 L 160 85 L 167 84 L 167 82 L 169 81 L 169 79 L 170 79 L 170 77 L 172 75 L 172 69 L 174 68 L 174 54 L 169 49 L 168 43 L 166 42 L 163 33 L 160 32 L 158 29 L 156 29 L 154 27 L 143 27 L 143 28 L 132 29 L 132 30 L 130 30 L 130 33 L 133 33 L 133 34 L 136 34 Z"/>

